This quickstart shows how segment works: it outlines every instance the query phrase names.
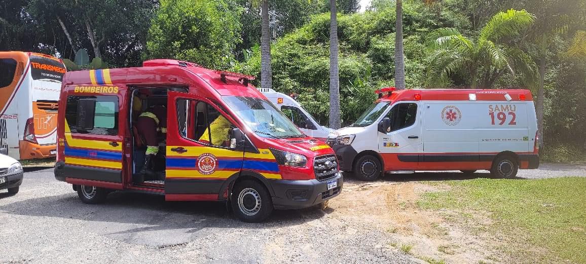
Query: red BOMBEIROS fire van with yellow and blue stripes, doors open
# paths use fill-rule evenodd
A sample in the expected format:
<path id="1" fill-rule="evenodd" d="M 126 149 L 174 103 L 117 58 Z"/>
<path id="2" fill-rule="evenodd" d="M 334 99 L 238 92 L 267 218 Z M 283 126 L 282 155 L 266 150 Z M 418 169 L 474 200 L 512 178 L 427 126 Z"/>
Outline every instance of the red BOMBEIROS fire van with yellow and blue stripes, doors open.
<path id="1" fill-rule="evenodd" d="M 66 73 L 56 179 L 73 184 L 84 203 L 113 190 L 144 191 L 168 201 L 230 201 L 249 222 L 337 196 L 343 177 L 333 150 L 301 133 L 253 78 L 177 60 Z M 136 124 L 154 116 L 153 106 L 166 107 L 153 118 L 166 127 L 151 160 L 155 176 L 145 177 L 145 131 Z"/>

